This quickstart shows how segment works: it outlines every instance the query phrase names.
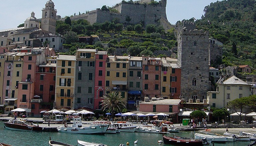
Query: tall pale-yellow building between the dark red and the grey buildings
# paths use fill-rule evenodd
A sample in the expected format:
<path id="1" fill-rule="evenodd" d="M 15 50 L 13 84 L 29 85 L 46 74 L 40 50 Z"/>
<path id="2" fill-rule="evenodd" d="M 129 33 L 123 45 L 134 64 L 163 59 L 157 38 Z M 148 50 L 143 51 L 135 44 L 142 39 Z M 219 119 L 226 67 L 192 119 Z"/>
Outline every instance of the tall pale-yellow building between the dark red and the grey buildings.
<path id="1" fill-rule="evenodd" d="M 74 107 L 76 56 L 58 55 L 55 108 Z"/>

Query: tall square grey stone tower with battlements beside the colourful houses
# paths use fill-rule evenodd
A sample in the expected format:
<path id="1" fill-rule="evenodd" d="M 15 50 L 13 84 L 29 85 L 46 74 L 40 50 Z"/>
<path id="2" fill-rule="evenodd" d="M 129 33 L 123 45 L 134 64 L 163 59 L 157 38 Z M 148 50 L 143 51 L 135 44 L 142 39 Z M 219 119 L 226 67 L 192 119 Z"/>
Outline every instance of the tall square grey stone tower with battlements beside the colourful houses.
<path id="1" fill-rule="evenodd" d="M 178 63 L 181 65 L 181 91 L 186 101 L 206 99 L 209 81 L 209 33 L 195 29 L 195 24 L 176 26 Z"/>

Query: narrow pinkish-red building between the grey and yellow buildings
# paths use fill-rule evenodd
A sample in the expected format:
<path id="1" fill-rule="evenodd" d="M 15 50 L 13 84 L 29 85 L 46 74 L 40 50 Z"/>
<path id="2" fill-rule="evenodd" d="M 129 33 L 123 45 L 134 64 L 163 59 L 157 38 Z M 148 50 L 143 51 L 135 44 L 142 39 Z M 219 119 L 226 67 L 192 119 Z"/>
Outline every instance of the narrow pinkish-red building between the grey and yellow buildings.
<path id="1" fill-rule="evenodd" d="M 98 51 L 95 56 L 94 109 L 101 109 L 101 97 L 105 92 L 105 67 L 108 55 L 106 51 Z M 99 83 L 101 83 L 101 86 L 99 86 Z"/>

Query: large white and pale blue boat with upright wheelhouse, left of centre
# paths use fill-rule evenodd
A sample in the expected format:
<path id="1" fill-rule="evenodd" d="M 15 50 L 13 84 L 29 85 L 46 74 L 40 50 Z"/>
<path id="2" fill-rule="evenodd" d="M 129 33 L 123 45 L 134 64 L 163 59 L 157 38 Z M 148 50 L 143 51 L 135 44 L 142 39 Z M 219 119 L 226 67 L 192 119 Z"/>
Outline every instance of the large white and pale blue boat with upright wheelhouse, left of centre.
<path id="1" fill-rule="evenodd" d="M 73 120 L 73 124 L 68 125 L 67 123 L 65 123 L 64 126 L 57 127 L 57 130 L 59 132 L 104 135 L 109 126 L 109 124 L 90 124 L 90 126 L 88 127 L 83 127 L 81 118 L 79 116 L 70 116 L 70 118 Z"/>

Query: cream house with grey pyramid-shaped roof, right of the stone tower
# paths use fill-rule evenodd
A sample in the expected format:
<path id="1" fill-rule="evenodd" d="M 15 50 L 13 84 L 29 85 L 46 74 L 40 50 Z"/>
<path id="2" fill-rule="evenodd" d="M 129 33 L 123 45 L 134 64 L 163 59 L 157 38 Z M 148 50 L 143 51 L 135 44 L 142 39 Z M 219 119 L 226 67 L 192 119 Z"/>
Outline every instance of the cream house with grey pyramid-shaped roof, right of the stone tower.
<path id="1" fill-rule="evenodd" d="M 252 95 L 252 85 L 240 80 L 236 76 L 217 82 L 217 91 L 207 92 L 207 103 L 216 108 L 227 108 L 228 102 Z"/>

